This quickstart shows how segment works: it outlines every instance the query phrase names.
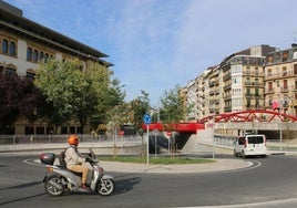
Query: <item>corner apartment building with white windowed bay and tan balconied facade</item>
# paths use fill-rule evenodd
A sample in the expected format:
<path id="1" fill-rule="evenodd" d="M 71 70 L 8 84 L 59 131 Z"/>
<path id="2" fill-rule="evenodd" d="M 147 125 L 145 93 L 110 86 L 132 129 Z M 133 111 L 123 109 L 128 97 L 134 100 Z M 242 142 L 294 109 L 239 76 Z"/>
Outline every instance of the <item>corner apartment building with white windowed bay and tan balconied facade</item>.
<path id="1" fill-rule="evenodd" d="M 264 108 L 264 56 L 234 55 L 224 67 L 224 112 Z"/>

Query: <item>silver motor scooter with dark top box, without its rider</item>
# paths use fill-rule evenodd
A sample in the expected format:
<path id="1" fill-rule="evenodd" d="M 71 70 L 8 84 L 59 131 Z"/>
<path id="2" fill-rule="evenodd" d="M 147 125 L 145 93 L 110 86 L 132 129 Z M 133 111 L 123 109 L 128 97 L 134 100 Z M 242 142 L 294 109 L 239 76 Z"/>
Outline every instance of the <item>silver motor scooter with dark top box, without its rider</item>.
<path id="1" fill-rule="evenodd" d="M 86 184 L 90 190 L 81 188 L 81 174 L 69 170 L 64 166 L 54 164 L 55 155 L 53 153 L 43 153 L 40 160 L 47 167 L 47 175 L 43 179 L 44 189 L 50 196 L 61 196 L 68 191 L 99 193 L 102 196 L 109 196 L 114 191 L 115 184 L 112 176 L 104 174 L 99 165 L 95 154 L 90 149 L 88 163 L 90 170 Z M 86 165 L 85 164 L 85 165 Z"/>

